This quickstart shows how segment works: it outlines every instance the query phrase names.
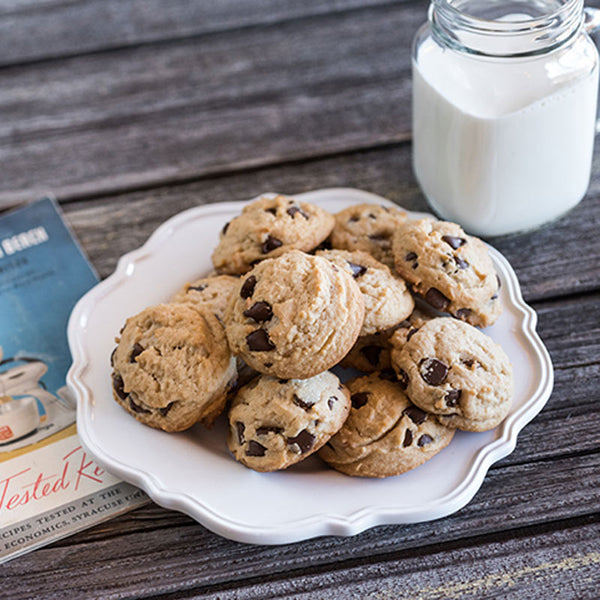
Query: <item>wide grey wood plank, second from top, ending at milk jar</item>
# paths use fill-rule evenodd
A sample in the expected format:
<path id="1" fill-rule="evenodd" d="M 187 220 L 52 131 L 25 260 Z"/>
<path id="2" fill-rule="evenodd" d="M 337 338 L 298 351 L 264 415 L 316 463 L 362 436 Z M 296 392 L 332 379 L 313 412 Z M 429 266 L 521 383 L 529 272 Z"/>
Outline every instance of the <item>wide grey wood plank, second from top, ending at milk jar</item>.
<path id="1" fill-rule="evenodd" d="M 0 206 L 407 139 L 417 6 L 4 69 Z"/>

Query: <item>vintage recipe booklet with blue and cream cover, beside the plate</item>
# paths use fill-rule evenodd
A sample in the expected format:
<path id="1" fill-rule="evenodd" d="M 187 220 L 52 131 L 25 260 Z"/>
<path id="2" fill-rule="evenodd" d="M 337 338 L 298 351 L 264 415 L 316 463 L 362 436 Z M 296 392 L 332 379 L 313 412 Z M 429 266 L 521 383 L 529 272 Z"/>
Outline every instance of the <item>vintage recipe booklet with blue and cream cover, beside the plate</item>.
<path id="1" fill-rule="evenodd" d="M 53 200 L 0 215 L 0 562 L 148 501 L 77 437 L 67 322 L 97 280 Z"/>

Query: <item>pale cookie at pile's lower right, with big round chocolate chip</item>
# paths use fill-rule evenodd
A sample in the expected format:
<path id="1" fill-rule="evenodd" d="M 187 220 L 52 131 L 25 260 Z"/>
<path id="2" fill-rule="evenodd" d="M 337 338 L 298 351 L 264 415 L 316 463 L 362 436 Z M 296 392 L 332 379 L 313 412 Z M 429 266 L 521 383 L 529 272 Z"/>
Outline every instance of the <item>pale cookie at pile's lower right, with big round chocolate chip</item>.
<path id="1" fill-rule="evenodd" d="M 392 353 L 392 365 L 409 398 L 448 427 L 486 431 L 510 410 L 510 361 L 489 336 L 467 323 L 432 319 Z"/>

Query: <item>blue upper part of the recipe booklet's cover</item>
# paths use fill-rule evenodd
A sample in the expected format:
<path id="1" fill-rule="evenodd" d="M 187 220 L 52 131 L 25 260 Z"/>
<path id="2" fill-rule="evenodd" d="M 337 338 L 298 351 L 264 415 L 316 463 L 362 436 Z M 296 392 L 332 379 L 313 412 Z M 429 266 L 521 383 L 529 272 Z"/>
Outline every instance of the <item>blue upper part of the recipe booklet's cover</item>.
<path id="1" fill-rule="evenodd" d="M 65 325 L 97 281 L 52 200 L 0 218 L 0 395 L 42 384 L 60 396 L 71 365 Z"/>

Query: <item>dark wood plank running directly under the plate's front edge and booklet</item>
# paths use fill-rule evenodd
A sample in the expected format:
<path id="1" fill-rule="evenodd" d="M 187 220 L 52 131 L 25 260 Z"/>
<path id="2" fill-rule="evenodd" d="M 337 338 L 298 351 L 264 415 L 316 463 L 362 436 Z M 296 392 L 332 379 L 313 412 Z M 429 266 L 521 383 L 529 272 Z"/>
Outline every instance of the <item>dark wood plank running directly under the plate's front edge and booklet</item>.
<path id="1" fill-rule="evenodd" d="M 44 597 L 59 598 L 67 589 L 77 597 L 93 589 L 96 597 L 111 599 L 139 597 L 149 589 L 157 595 L 211 586 L 221 591 L 227 585 L 242 587 L 246 580 L 253 584 L 257 579 L 286 580 L 290 572 L 326 580 L 329 575 L 324 573 L 345 566 L 365 565 L 359 568 L 365 572 L 380 569 L 391 554 L 404 551 L 399 558 L 418 554 L 425 564 L 438 553 L 443 559 L 444 548 L 467 554 L 469 548 L 476 551 L 483 543 L 478 535 L 504 532 L 503 538 L 509 539 L 522 527 L 546 524 L 551 530 L 551 524 L 558 522 L 555 528 L 561 529 L 563 519 L 597 514 L 599 464 L 599 455 L 587 455 L 549 461 L 543 468 L 498 468 L 489 473 L 467 507 L 446 519 L 275 547 L 231 542 L 179 516 L 170 521 L 167 515 L 160 527 L 132 527 L 136 518 L 132 513 L 101 525 L 106 532 L 103 539 L 93 540 L 94 530 L 82 532 L 8 563 L 0 571 L 0 587 L 8 589 L 10 581 L 10 598 L 15 599 L 36 597 L 46 590 L 52 594 Z M 123 529 L 131 533 L 121 535 L 119 523 L 124 521 L 129 524 Z M 156 565 L 160 565 L 160 580 Z"/>

